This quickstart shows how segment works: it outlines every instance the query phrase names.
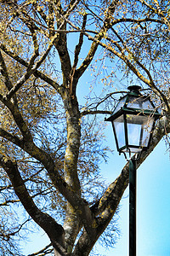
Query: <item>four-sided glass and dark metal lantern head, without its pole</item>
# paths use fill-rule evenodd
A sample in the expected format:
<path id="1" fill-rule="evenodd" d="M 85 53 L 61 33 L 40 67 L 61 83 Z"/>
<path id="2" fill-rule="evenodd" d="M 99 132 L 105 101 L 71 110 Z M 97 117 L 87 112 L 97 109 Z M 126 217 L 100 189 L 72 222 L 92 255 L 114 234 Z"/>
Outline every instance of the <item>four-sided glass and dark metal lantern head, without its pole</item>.
<path id="1" fill-rule="evenodd" d="M 143 96 L 141 87 L 127 87 L 129 92 L 122 96 L 113 113 L 105 121 L 111 121 L 119 154 L 141 153 L 150 147 L 152 131 L 161 114 L 157 112 L 150 96 Z M 127 159 L 127 156 L 125 154 Z"/>

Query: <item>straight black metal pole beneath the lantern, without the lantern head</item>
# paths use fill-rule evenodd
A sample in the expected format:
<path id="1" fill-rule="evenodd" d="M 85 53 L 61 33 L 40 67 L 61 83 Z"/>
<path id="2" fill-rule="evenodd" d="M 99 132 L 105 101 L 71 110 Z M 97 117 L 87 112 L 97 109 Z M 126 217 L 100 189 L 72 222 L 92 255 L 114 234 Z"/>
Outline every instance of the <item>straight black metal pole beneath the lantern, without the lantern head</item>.
<path id="1" fill-rule="evenodd" d="M 129 256 L 136 256 L 136 160 L 129 161 Z"/>

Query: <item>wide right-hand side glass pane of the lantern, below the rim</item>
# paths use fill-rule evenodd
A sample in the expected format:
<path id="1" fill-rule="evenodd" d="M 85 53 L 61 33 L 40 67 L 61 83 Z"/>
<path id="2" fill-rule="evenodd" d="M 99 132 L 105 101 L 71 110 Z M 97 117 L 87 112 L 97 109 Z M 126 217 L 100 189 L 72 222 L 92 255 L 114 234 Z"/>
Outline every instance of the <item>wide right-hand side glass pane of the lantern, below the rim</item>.
<path id="1" fill-rule="evenodd" d="M 154 118 L 148 115 L 127 114 L 128 145 L 147 147 L 153 123 Z"/>

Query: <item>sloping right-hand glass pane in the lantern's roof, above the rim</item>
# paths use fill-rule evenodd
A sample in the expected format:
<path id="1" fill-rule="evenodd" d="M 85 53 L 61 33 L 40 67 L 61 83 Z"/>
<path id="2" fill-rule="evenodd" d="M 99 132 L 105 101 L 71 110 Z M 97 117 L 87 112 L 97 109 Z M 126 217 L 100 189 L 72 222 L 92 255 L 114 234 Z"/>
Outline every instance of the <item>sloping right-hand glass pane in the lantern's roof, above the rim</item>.
<path id="1" fill-rule="evenodd" d="M 149 110 L 154 109 L 149 99 L 142 96 L 139 98 L 130 96 L 128 98 L 127 108 L 140 108 L 140 109 L 149 109 Z"/>

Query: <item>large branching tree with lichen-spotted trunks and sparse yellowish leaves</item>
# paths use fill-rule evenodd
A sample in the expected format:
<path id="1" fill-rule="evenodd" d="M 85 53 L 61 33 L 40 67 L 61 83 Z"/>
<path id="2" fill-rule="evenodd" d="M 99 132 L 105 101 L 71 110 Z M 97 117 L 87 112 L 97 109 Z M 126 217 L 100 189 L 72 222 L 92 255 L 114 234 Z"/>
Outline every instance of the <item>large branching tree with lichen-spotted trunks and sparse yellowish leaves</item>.
<path id="1" fill-rule="evenodd" d="M 8 254 L 20 255 L 12 238 L 24 236 L 32 219 L 55 255 L 88 255 L 128 185 L 128 164 L 108 188 L 99 180 L 108 148 L 95 120 L 111 113 L 116 95 L 125 91 L 108 85 L 116 73 L 149 90 L 163 110 L 137 166 L 170 131 L 167 1 L 0 3 L 1 239 Z M 95 63 L 103 67 L 107 60 L 113 67 L 102 78 L 105 95 L 87 96 L 81 106 L 83 74 L 91 68 L 97 81 Z M 16 205 L 25 209 L 20 222 Z"/>

